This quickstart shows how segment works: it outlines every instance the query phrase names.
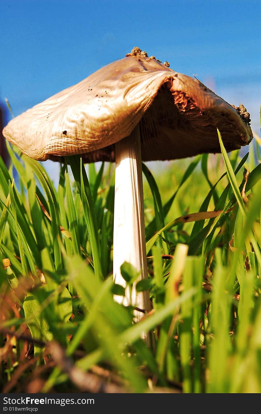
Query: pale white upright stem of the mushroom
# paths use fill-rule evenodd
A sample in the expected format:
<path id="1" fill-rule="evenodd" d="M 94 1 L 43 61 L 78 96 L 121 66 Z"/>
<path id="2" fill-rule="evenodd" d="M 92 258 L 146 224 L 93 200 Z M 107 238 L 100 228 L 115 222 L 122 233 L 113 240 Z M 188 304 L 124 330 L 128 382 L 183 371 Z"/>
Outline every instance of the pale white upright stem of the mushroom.
<path id="1" fill-rule="evenodd" d="M 140 272 L 138 281 L 147 278 L 139 124 L 131 135 L 116 142 L 113 277 L 116 284 L 126 287 L 120 270 L 123 262 L 131 263 Z M 124 299 L 115 295 L 115 300 L 150 310 L 149 291 L 137 293 L 135 285 L 132 292 L 126 289 Z M 142 313 L 136 312 L 135 316 L 140 319 Z"/>

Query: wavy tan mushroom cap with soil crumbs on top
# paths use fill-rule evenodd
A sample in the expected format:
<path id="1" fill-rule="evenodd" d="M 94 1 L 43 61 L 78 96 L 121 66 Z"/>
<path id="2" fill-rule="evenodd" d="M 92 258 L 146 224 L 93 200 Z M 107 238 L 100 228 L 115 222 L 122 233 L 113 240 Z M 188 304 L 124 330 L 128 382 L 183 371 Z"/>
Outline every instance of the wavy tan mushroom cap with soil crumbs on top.
<path id="1" fill-rule="evenodd" d="M 142 159 L 170 160 L 220 152 L 216 128 L 228 151 L 248 144 L 249 114 L 240 108 L 154 57 L 128 55 L 17 116 L 3 135 L 40 161 L 114 161 L 115 143 L 140 122 Z"/>

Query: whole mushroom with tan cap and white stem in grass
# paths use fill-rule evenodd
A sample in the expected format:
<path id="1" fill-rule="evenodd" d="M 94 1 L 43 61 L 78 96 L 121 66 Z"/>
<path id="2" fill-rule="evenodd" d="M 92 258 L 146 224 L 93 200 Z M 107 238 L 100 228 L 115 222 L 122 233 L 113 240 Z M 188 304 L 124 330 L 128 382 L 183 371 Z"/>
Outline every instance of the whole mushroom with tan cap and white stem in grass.
<path id="1" fill-rule="evenodd" d="M 147 277 L 142 160 L 172 160 L 227 151 L 252 140 L 249 113 L 204 84 L 135 47 L 82 82 L 39 103 L 3 134 L 34 159 L 82 154 L 85 162 L 115 161 L 113 273 L 130 262 Z M 124 304 L 150 309 L 149 294 L 128 294 Z"/>

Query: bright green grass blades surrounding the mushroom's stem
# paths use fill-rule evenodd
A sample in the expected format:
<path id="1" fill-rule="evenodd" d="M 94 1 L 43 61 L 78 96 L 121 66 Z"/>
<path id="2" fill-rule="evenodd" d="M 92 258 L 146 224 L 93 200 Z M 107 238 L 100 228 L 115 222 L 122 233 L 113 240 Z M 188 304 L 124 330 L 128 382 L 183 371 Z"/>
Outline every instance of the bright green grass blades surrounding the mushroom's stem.
<path id="1" fill-rule="evenodd" d="M 142 167 L 149 279 L 137 289 L 153 310 L 138 323 L 113 300 L 125 294 L 112 280 L 114 167 L 70 157 L 54 188 L 44 164 L 8 145 L 3 392 L 261 392 L 261 166 L 254 144 L 228 156 L 218 137 L 222 155 L 155 176 Z M 127 264 L 123 274 L 137 277 Z"/>

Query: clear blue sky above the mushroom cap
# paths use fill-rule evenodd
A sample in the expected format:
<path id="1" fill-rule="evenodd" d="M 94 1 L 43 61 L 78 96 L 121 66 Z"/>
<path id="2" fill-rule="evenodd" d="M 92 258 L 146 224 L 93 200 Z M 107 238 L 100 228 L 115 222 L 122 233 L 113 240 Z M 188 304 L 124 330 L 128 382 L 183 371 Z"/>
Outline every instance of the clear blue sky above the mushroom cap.
<path id="1" fill-rule="evenodd" d="M 14 114 L 139 46 L 244 103 L 260 132 L 260 0 L 0 0 L 0 101 Z"/>

